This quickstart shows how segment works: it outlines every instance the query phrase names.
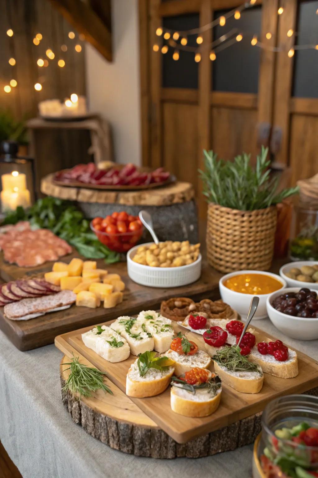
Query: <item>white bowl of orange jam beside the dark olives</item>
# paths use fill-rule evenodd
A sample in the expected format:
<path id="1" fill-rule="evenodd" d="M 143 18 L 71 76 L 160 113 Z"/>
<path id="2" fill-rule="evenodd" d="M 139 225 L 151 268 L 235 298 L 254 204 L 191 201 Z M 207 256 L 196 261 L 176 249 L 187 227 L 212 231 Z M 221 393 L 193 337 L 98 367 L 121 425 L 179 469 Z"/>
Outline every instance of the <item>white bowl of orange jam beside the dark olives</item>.
<path id="1" fill-rule="evenodd" d="M 263 271 L 231 272 L 224 275 L 219 282 L 222 300 L 236 310 L 242 319 L 246 319 L 254 295 L 259 297 L 254 319 L 267 317 L 267 297 L 273 292 L 284 289 L 284 287 L 287 287 L 287 283 L 282 277 Z"/>

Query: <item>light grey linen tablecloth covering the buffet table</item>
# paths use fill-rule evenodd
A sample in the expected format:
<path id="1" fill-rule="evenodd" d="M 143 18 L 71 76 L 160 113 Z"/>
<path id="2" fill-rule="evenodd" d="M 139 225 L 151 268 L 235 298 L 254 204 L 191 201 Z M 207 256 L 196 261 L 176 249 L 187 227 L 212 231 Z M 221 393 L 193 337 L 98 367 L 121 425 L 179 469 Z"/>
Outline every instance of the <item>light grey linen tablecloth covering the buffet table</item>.
<path id="1" fill-rule="evenodd" d="M 284 337 L 269 319 L 255 325 L 318 359 L 318 340 Z M 127 455 L 92 438 L 62 405 L 61 359 L 54 345 L 20 352 L 0 332 L 0 440 L 23 478 L 251 476 L 253 445 L 204 458 L 162 460 Z"/>

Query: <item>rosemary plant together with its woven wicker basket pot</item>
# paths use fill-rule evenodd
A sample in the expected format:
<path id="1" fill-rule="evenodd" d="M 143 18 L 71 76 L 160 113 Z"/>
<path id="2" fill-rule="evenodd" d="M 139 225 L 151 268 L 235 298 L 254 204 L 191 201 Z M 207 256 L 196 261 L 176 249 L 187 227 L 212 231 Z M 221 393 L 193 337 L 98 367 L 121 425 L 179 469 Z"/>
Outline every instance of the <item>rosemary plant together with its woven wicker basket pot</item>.
<path id="1" fill-rule="evenodd" d="M 211 266 L 221 272 L 269 269 L 276 231 L 276 204 L 298 192 L 277 193 L 278 178 L 270 177 L 268 149 L 262 146 L 256 165 L 250 154 L 234 161 L 204 151 L 205 171 L 199 171 L 208 201 L 206 245 Z"/>

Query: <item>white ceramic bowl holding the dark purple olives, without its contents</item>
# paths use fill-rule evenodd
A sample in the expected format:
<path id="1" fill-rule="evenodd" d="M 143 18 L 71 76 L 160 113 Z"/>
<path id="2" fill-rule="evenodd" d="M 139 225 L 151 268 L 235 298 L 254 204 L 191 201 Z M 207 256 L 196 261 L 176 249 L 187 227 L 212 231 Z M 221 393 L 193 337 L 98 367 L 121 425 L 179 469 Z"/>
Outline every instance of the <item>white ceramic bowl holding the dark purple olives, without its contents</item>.
<path id="1" fill-rule="evenodd" d="M 272 306 L 273 300 L 282 293 L 298 292 L 301 287 L 287 287 L 283 291 L 275 291 L 267 297 L 267 314 L 274 326 L 287 337 L 298 340 L 314 340 L 318 338 L 318 319 L 294 317 L 278 312 Z M 313 289 L 311 289 L 313 290 Z M 314 292 L 317 292 L 316 290 Z"/>

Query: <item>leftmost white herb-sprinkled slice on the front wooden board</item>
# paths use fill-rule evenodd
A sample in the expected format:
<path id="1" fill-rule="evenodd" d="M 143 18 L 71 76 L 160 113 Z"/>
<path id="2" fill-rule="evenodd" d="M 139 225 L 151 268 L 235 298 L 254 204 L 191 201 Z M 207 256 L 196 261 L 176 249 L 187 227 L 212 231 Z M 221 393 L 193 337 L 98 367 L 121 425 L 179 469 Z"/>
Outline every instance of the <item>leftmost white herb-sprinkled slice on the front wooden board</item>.
<path id="1" fill-rule="evenodd" d="M 116 363 L 128 359 L 130 356 L 130 348 L 127 341 L 117 332 L 107 326 L 102 326 L 103 332 L 98 334 L 97 327 L 82 334 L 82 341 L 86 347 L 91 348 L 103 359 Z M 110 344 L 113 342 L 117 347 Z M 118 347 L 118 344 L 122 345 Z"/>

